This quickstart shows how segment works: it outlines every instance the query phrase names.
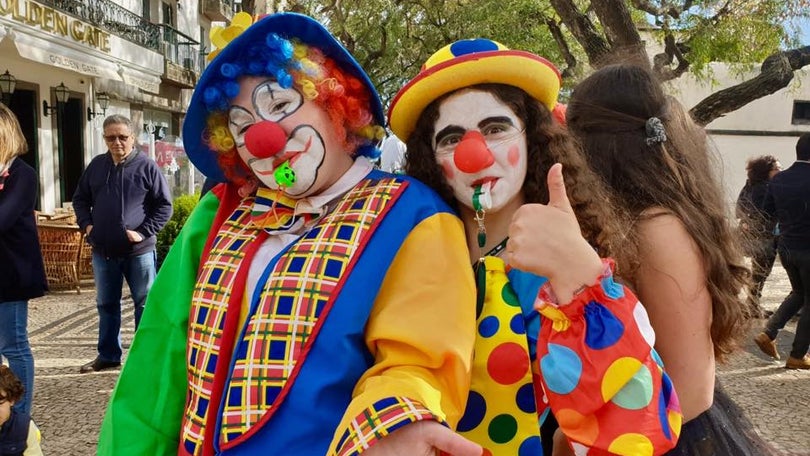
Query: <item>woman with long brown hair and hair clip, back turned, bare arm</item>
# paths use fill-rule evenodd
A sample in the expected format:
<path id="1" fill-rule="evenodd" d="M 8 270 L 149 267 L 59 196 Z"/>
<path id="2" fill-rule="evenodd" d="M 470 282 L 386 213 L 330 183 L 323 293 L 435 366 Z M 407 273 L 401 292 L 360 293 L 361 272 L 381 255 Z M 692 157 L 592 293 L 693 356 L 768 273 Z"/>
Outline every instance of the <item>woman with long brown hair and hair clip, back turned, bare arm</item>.
<path id="1" fill-rule="evenodd" d="M 750 423 L 715 388 L 715 364 L 744 334 L 749 271 L 729 224 L 706 134 L 649 71 L 602 68 L 567 109 L 591 168 L 629 216 L 616 250 L 672 376 L 684 426 L 672 455 L 764 454 Z"/>

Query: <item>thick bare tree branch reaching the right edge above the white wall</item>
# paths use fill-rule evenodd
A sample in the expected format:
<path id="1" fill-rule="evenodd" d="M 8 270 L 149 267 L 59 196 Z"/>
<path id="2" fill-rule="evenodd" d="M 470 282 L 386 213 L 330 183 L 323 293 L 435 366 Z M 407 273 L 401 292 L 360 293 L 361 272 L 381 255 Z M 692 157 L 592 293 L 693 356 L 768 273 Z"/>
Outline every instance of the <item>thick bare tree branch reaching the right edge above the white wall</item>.
<path id="1" fill-rule="evenodd" d="M 718 117 L 787 87 L 793 80 L 793 72 L 808 64 L 810 46 L 773 54 L 762 63 L 756 77 L 709 95 L 689 112 L 695 122 L 707 125 Z"/>

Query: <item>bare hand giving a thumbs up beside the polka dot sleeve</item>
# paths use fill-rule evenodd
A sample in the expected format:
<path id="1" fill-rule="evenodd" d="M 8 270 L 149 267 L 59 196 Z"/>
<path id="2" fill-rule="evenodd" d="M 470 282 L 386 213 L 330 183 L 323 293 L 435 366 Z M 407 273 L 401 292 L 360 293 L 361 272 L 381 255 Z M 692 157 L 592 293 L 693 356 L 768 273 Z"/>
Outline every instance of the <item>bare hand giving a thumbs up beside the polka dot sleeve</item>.
<path id="1" fill-rule="evenodd" d="M 595 282 L 602 262 L 582 237 L 561 164 L 549 169 L 547 182 L 548 204 L 524 204 L 512 216 L 506 262 L 548 278 L 559 304 L 567 304 L 576 290 Z"/>

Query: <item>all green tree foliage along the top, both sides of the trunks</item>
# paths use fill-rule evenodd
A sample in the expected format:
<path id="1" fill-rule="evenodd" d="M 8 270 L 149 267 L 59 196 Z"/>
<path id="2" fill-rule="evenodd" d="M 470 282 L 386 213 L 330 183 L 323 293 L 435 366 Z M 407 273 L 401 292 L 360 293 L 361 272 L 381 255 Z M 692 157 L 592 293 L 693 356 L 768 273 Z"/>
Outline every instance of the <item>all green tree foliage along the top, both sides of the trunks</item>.
<path id="1" fill-rule="evenodd" d="M 596 0 L 604 2 L 607 0 Z M 564 88 L 588 71 L 593 42 L 574 39 L 558 14 L 564 1 L 552 0 L 285 0 L 274 8 L 308 14 L 320 20 L 357 58 L 387 106 L 394 94 L 417 74 L 441 47 L 464 38 L 489 38 L 533 52 L 567 69 Z M 597 34 L 613 46 L 630 34 L 606 32 L 594 0 L 572 0 L 577 24 L 593 23 Z M 642 32 L 648 52 L 660 52 L 664 37 L 674 34 L 688 71 L 711 79 L 711 63 L 732 64 L 735 71 L 761 63 L 765 57 L 797 47 L 798 31 L 790 26 L 810 17 L 810 0 L 624 0 L 632 24 Z M 686 8 L 684 10 L 684 8 Z M 556 25 L 566 42 L 561 49 L 550 32 Z M 596 40 L 598 42 L 598 40 Z M 641 44 L 641 43 L 639 43 Z M 593 46 L 599 49 L 599 46 Z M 586 52 L 589 51 L 589 52 Z M 566 60 L 566 52 L 570 52 Z M 653 55 L 649 55 L 653 57 Z M 573 60 L 571 60 L 573 59 Z M 575 60 L 575 62 L 574 62 Z M 677 63 L 677 62 L 676 62 Z M 569 67 L 570 65 L 570 67 Z M 673 64 L 674 67 L 674 64 Z"/>

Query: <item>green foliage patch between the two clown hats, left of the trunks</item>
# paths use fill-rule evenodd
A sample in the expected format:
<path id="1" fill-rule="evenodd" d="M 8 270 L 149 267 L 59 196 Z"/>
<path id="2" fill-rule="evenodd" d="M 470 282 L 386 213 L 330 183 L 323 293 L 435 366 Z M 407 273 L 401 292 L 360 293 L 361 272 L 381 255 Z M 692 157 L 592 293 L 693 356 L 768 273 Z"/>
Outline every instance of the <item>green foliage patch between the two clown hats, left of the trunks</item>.
<path id="1" fill-rule="evenodd" d="M 441 47 L 489 38 L 563 62 L 545 25 L 547 0 L 290 0 L 287 10 L 326 24 L 377 86 L 383 104 Z"/>

